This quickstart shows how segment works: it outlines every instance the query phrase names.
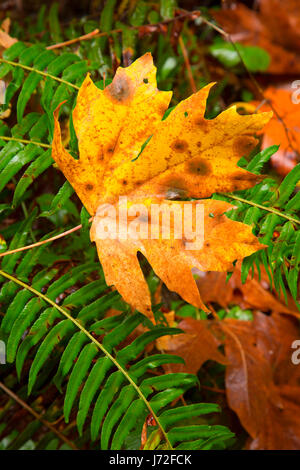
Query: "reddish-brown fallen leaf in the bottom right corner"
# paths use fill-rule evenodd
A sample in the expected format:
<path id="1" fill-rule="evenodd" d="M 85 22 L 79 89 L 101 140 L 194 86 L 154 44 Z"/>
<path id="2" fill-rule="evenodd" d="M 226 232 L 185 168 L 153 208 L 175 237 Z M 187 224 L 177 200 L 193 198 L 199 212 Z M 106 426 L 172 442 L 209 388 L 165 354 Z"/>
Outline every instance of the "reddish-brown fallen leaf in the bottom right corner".
<path id="1" fill-rule="evenodd" d="M 225 320 L 226 394 L 251 436 L 250 449 L 300 448 L 300 369 L 291 362 L 297 321 L 256 313 Z"/>

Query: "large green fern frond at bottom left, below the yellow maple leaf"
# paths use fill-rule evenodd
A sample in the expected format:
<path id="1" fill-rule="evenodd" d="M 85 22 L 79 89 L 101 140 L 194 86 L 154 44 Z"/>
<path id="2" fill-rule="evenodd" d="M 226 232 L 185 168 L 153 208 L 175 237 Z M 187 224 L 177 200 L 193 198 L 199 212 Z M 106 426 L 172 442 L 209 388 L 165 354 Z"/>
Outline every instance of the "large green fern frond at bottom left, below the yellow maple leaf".
<path id="1" fill-rule="evenodd" d="M 81 267 L 80 269 L 82 271 Z M 87 269 L 92 269 L 92 266 Z M 223 436 L 223 444 L 232 438 L 232 433 L 224 426 L 195 425 L 192 427 L 178 427 L 177 419 L 174 419 L 174 417 L 173 419 L 168 419 L 168 415 L 164 414 L 165 408 L 171 402 L 178 399 L 189 388 L 197 385 L 197 377 L 186 373 L 153 377 L 149 372 L 166 363 L 183 362 L 181 358 L 161 354 L 138 359 L 147 345 L 161 336 L 181 333 L 181 330 L 161 326 L 153 327 L 150 331 L 138 336 L 128 346 L 122 347 L 121 343 L 144 322 L 143 315 L 137 313 L 125 318 L 121 315 L 113 320 L 106 318 L 95 323 L 92 321 L 93 315 L 91 315 L 93 310 L 89 309 L 87 311 L 85 308 L 84 313 L 82 310 L 77 318 L 74 318 L 66 308 L 57 305 L 53 300 L 54 293 L 56 295 L 58 292 L 57 283 L 60 286 L 61 284 L 64 284 L 64 286 L 68 285 L 70 273 L 65 275 L 67 277 L 62 276 L 64 280 L 60 278 L 51 286 L 48 293 L 49 296 L 41 294 L 35 287 L 23 283 L 4 271 L 0 271 L 0 274 L 23 288 L 19 293 L 19 297 L 22 295 L 20 309 L 25 308 L 24 305 L 26 300 L 28 300 L 28 297 L 25 295 L 26 293 L 29 296 L 35 294 L 39 299 L 52 306 L 51 309 L 46 309 L 43 312 L 44 323 L 49 317 L 52 316 L 53 318 L 54 310 L 58 312 L 58 316 L 56 316 L 58 322 L 46 334 L 44 339 L 42 339 L 44 335 L 41 335 L 39 338 L 42 339 L 42 342 L 30 368 L 29 392 L 31 392 L 38 373 L 45 365 L 53 348 L 65 341 L 68 343 L 69 350 L 71 350 L 70 344 L 75 346 L 77 361 L 74 364 L 74 361 L 71 362 L 69 360 L 67 354 L 63 354 L 56 375 L 56 379 L 59 377 L 59 383 L 61 383 L 67 374 L 70 373 L 64 404 L 65 418 L 67 421 L 69 420 L 77 394 L 84 384 L 80 392 L 79 411 L 77 414 L 78 429 L 82 433 L 90 406 L 94 402 L 91 418 L 91 436 L 95 440 L 101 427 L 102 449 L 122 448 L 128 432 L 134 429 L 137 423 L 145 420 L 149 412 L 158 426 L 161 440 L 166 443 L 169 449 L 177 448 L 179 445 L 183 448 L 184 442 L 187 439 L 189 440 L 189 446 L 193 445 L 195 448 L 199 448 L 199 446 L 204 446 L 208 439 L 216 436 L 220 437 L 220 433 Z M 74 272 L 72 280 L 74 280 Z M 37 281 L 35 285 L 37 285 Z M 78 302 L 82 301 L 80 290 L 64 300 L 65 306 L 69 305 L 69 303 L 71 305 L 77 304 L 78 306 Z M 97 289 L 95 289 L 96 292 Z M 87 293 L 88 290 L 86 290 Z M 99 292 L 97 292 L 98 294 Z M 93 297 L 90 293 L 88 295 Z M 86 299 L 84 299 L 85 301 Z M 99 309 L 97 309 L 97 314 L 99 315 Z M 45 318 L 46 316 L 47 319 Z M 62 316 L 65 319 L 62 319 Z M 8 317 L 9 320 L 12 320 L 12 313 Z M 15 319 L 12 325 L 14 334 L 19 329 L 18 323 L 15 323 L 16 321 L 18 320 Z M 7 327 L 7 322 L 5 326 Z M 6 327 L 4 332 L 8 333 Z M 80 330 L 79 332 L 78 329 Z M 105 332 L 104 337 L 100 343 L 96 337 L 99 334 L 103 336 L 103 332 Z M 87 340 L 83 340 L 81 333 L 83 333 Z M 30 337 L 30 331 L 26 338 L 28 337 Z M 87 344 L 86 341 L 88 341 Z M 8 351 L 10 360 L 14 356 L 16 346 L 14 340 L 10 339 L 9 336 L 8 344 L 12 343 L 14 345 Z M 116 348 L 120 349 L 115 352 Z M 194 418 L 200 413 L 200 409 L 197 407 L 191 408 L 189 411 Z M 175 422 L 176 426 L 173 426 Z"/>

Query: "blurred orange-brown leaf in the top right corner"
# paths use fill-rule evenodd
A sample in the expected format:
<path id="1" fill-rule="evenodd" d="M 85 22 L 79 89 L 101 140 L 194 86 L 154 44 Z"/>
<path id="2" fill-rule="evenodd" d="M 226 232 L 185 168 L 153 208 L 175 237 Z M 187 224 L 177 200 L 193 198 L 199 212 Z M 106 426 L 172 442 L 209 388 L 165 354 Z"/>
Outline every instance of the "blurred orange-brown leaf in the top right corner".
<path id="1" fill-rule="evenodd" d="M 265 49 L 272 74 L 300 72 L 300 15 L 298 0 L 259 0 L 259 11 L 242 3 L 234 9 L 211 11 L 233 41 Z"/>

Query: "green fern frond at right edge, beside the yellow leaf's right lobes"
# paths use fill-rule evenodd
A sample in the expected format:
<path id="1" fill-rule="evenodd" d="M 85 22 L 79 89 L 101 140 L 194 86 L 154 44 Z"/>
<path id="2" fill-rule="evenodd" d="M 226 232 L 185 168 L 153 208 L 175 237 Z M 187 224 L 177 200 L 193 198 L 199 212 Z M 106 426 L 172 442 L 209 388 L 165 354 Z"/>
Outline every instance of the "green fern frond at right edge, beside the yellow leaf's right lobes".
<path id="1" fill-rule="evenodd" d="M 260 171 L 277 146 L 257 154 L 246 167 Z M 227 213 L 230 218 L 252 225 L 260 242 L 268 245 L 264 251 L 246 258 L 242 265 L 242 280 L 246 281 L 254 265 L 263 264 L 269 273 L 271 288 L 287 299 L 286 284 L 298 308 L 298 280 L 300 271 L 300 164 L 296 165 L 281 183 L 266 178 L 246 191 L 230 195 L 215 195 L 217 199 L 233 201 L 236 209 Z M 285 280 L 285 281 L 284 281 Z"/>

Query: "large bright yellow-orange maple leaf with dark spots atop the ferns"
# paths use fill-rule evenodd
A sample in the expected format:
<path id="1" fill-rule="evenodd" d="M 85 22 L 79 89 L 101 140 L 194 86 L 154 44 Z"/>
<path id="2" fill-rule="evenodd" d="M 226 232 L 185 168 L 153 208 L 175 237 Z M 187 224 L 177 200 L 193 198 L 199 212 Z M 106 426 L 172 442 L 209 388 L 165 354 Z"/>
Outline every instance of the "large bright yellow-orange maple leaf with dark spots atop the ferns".
<path id="1" fill-rule="evenodd" d="M 103 239 L 99 227 L 113 205 L 120 220 L 120 196 L 126 209 L 132 204 L 150 207 L 164 202 L 164 211 L 178 212 L 217 191 L 246 189 L 260 177 L 237 166 L 256 145 L 259 132 L 272 113 L 241 116 L 231 107 L 213 120 L 204 118 L 206 99 L 213 84 L 179 103 L 161 120 L 171 92 L 158 91 L 156 68 L 147 53 L 127 68 L 119 67 L 112 83 L 99 90 L 90 77 L 84 80 L 73 112 L 79 160 L 63 148 L 57 109 L 52 156 L 91 215 L 91 239 L 96 242 L 106 281 L 140 312 L 152 316 L 151 298 L 137 253 L 141 252 L 167 287 L 187 302 L 207 310 L 201 301 L 192 268 L 226 271 L 236 259 L 263 248 L 251 227 L 229 220 L 232 206 L 223 201 L 201 201 L 204 212 L 204 243 L 188 249 L 190 240 L 121 236 Z M 141 146 L 151 137 L 141 151 Z M 138 157 L 138 158 L 137 158 Z M 99 209 L 100 208 L 100 209 Z M 134 217 L 132 217 L 134 219 Z M 114 220 L 112 218 L 110 232 Z M 145 224 L 153 222 L 144 220 Z M 194 228 L 196 221 L 193 219 Z M 159 228 L 162 223 L 157 222 Z M 192 239 L 191 239 L 192 240 Z M 193 240 L 192 240 L 193 241 Z"/>

